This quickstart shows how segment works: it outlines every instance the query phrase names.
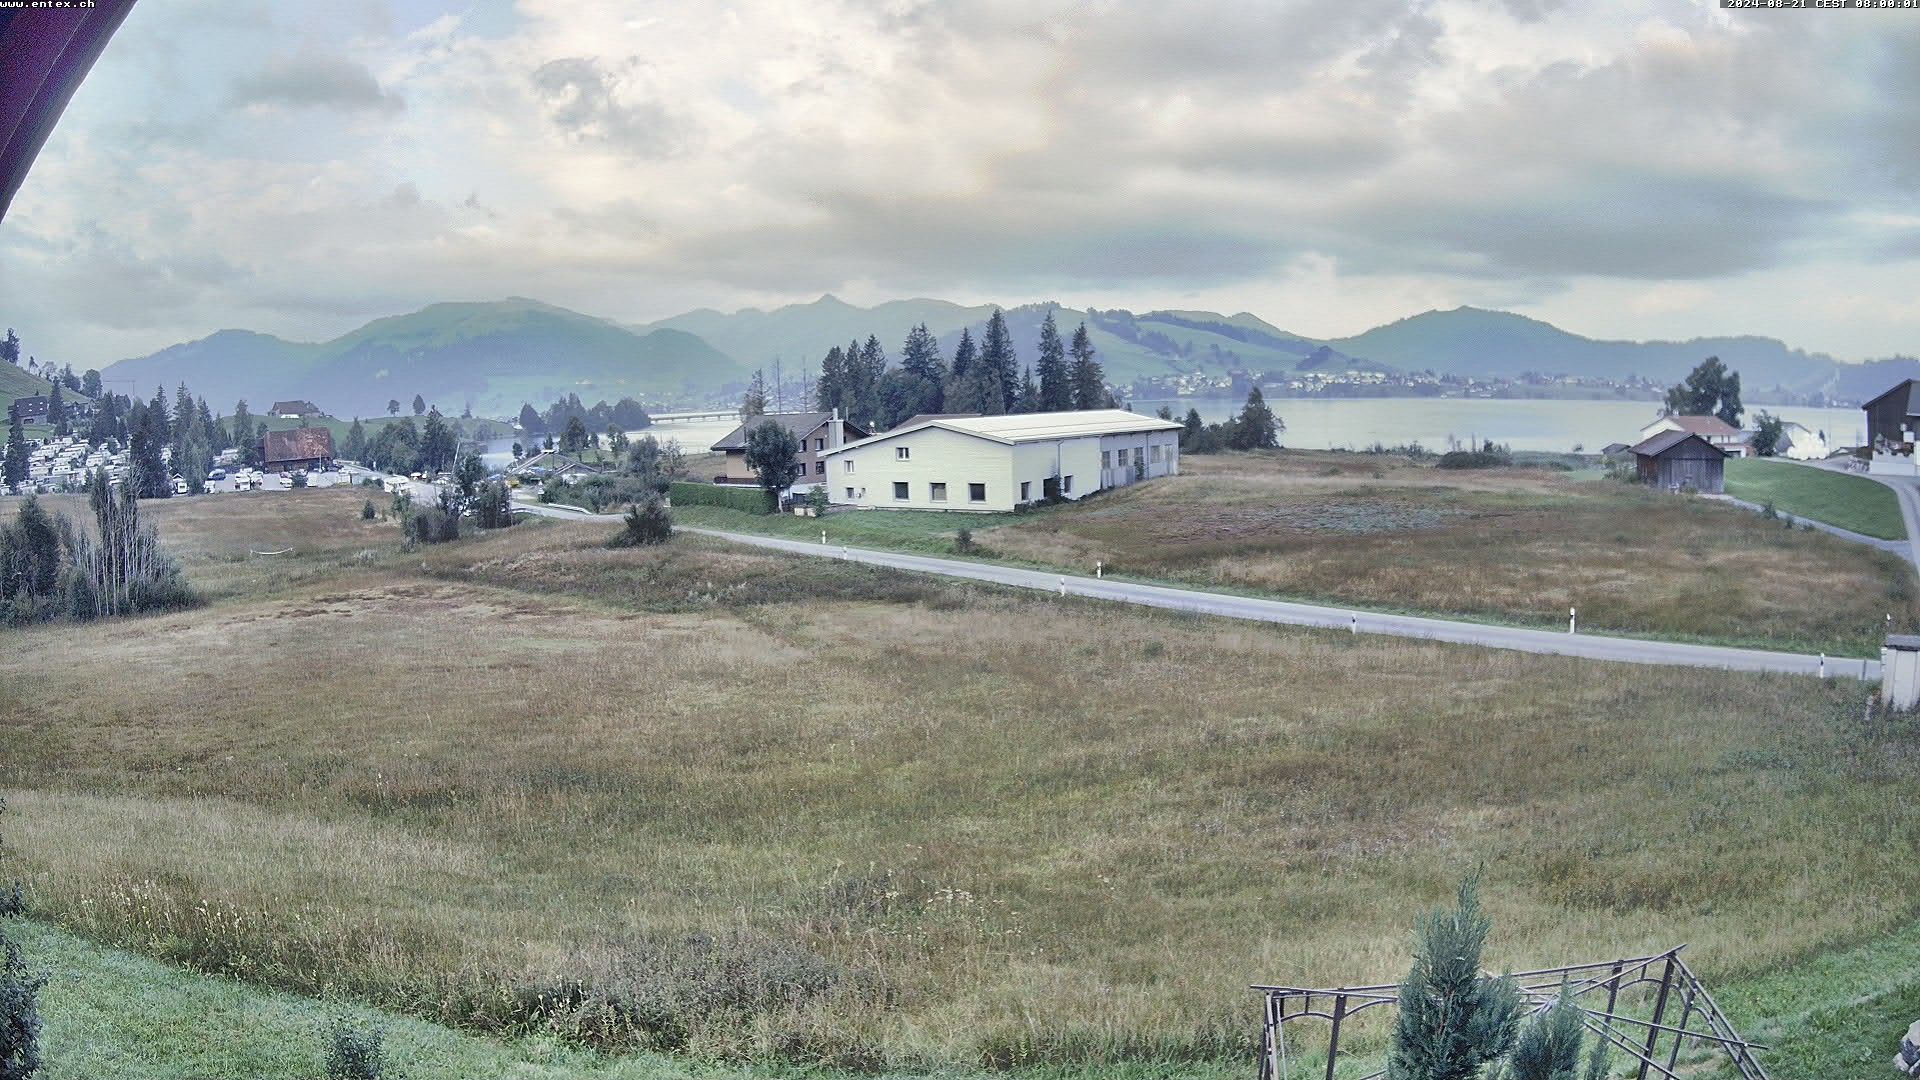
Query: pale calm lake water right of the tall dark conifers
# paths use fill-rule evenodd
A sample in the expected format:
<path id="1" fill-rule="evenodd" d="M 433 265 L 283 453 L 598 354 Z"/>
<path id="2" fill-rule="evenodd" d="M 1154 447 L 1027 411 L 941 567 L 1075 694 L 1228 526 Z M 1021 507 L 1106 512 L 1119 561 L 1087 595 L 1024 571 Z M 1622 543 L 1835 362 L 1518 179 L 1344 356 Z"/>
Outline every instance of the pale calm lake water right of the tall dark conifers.
<path id="1" fill-rule="evenodd" d="M 1162 404 L 1175 419 L 1188 407 L 1208 423 L 1233 417 L 1244 398 L 1135 400 L 1133 411 L 1150 413 Z M 1448 440 L 1480 442 L 1492 438 L 1513 450 L 1597 452 L 1609 442 L 1638 442 L 1640 427 L 1659 415 L 1659 402 L 1500 402 L 1486 398 L 1267 398 L 1267 405 L 1286 421 L 1281 446 L 1298 450 L 1363 450 L 1375 442 L 1400 446 L 1419 442 L 1446 450 Z M 1757 409 L 1749 407 L 1745 423 Z M 1828 446 L 1855 446 L 1864 432 L 1860 409 L 1801 409 L 1766 405 L 1780 419 L 1826 432 Z"/>

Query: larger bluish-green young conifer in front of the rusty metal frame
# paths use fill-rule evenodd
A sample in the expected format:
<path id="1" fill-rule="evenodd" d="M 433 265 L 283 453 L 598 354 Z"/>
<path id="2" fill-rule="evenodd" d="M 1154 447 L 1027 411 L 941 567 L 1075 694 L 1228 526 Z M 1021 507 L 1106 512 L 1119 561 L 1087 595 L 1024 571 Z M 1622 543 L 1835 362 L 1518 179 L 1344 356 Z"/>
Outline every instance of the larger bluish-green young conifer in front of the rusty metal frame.
<path id="1" fill-rule="evenodd" d="M 1475 1080 L 1513 1047 L 1521 992 L 1509 978 L 1480 972 L 1492 928 L 1476 878 L 1459 886 L 1455 907 L 1421 919 L 1413 970 L 1400 982 L 1386 1080 Z"/>

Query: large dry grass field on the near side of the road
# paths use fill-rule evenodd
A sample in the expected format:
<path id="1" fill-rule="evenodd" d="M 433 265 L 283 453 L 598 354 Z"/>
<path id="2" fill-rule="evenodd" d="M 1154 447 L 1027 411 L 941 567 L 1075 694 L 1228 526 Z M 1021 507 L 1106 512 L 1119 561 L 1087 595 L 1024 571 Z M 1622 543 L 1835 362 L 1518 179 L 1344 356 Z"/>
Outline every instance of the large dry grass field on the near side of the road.
<path id="1" fill-rule="evenodd" d="M 470 1028 L 924 1068 L 1246 1061 L 1248 982 L 1398 976 L 1475 867 L 1505 965 L 1728 978 L 1920 911 L 1920 734 L 1857 684 L 591 525 L 401 553 L 359 500 L 154 503 L 217 603 L 6 634 L 38 915 Z"/>

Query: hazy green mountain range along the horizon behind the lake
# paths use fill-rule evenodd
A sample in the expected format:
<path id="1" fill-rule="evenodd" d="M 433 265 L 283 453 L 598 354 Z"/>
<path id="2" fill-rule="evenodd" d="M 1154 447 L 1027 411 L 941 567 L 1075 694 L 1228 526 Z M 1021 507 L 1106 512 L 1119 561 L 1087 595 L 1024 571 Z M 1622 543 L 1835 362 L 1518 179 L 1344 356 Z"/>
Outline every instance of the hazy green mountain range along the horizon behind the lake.
<path id="1" fill-rule="evenodd" d="M 1052 311 L 1060 332 L 1087 325 L 1108 379 L 1227 375 L 1284 377 L 1321 371 L 1432 371 L 1461 377 L 1567 373 L 1603 379 L 1640 375 L 1678 382 L 1707 356 L 1741 373 L 1747 396 L 1828 394 L 1859 402 L 1891 382 L 1920 377 L 1920 361 L 1889 357 L 1839 363 L 1774 338 L 1722 336 L 1686 342 L 1596 340 L 1507 311 L 1455 307 L 1425 311 L 1346 338 L 1309 338 L 1246 311 L 1068 309 L 1058 304 L 1006 307 L 1021 363 L 1037 354 L 1041 321 Z M 785 307 L 687 311 L 645 325 L 618 325 L 540 304 L 434 304 L 376 319 L 330 342 L 288 342 L 250 331 L 221 331 L 111 365 L 142 396 L 184 380 L 230 407 L 246 398 L 255 411 L 275 400 L 305 398 L 334 415 L 378 415 L 390 400 L 415 394 L 442 411 L 511 415 L 522 402 L 547 404 L 580 394 L 588 404 L 624 396 L 647 404 L 732 400 L 755 369 L 787 380 L 818 373 L 833 346 L 879 336 L 897 356 L 906 332 L 925 323 L 950 356 L 962 329 L 981 334 L 991 306 L 947 300 L 895 300 L 874 307 L 822 296 Z M 125 384 L 115 384 L 125 386 Z"/>

